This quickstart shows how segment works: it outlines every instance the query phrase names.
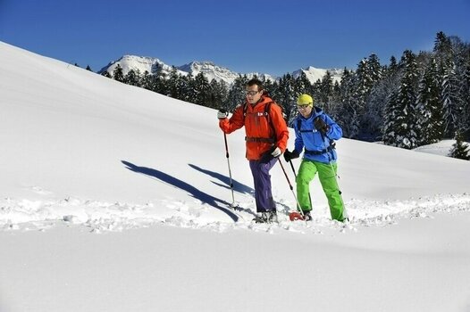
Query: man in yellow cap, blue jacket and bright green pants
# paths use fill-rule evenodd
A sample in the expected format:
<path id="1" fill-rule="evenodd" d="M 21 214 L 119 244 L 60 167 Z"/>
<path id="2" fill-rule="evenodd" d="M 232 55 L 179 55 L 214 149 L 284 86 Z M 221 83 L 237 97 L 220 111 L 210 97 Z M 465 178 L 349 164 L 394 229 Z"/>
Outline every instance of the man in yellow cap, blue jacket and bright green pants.
<path id="1" fill-rule="evenodd" d="M 314 107 L 312 96 L 301 94 L 297 104 L 299 114 L 294 120 L 295 148 L 292 152 L 286 150 L 284 159 L 290 161 L 298 158 L 305 148 L 296 180 L 298 204 L 304 213 L 304 219 L 311 220 L 312 202 L 309 185 L 318 172 L 332 219 L 342 222 L 347 217 L 344 216 L 344 204 L 336 180 L 337 155 L 333 141 L 341 138 L 342 130 L 330 116 L 318 107 Z"/>

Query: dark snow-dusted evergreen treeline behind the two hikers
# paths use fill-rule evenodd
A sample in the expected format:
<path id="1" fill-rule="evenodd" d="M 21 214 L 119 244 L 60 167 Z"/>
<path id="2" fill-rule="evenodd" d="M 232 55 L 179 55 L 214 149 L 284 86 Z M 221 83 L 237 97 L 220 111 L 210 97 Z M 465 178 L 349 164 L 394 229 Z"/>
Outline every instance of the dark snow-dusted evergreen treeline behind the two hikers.
<path id="1" fill-rule="evenodd" d="M 118 65 L 113 75 L 104 75 L 132 86 L 189 103 L 232 111 L 245 101 L 247 76 L 232 86 L 209 81 L 203 73 L 180 75 L 173 68 L 165 75 L 130 70 Z M 405 51 L 400 60 L 382 65 L 376 54 L 361 60 L 356 70 L 344 69 L 340 82 L 332 74 L 314 84 L 302 73 L 277 81 L 265 80 L 273 100 L 283 106 L 289 120 L 297 115 L 298 94 L 308 93 L 315 105 L 328 112 L 343 128 L 344 136 L 414 149 L 444 138 L 455 138 L 452 155 L 469 159 L 470 137 L 470 45 L 459 37 L 436 35 L 432 51 Z"/>

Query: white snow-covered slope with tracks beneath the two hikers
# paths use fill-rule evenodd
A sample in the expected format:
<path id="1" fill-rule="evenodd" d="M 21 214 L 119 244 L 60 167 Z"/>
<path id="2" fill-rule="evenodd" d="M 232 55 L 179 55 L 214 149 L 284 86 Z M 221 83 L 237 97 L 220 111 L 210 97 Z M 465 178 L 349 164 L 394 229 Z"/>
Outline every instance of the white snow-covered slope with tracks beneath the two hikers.
<path id="1" fill-rule="evenodd" d="M 314 220 L 288 221 L 276 166 L 280 223 L 256 225 L 243 131 L 228 208 L 216 111 L 4 43 L 0 59 L 0 311 L 470 310 L 468 161 L 341 139 L 351 222 L 317 180 Z"/>

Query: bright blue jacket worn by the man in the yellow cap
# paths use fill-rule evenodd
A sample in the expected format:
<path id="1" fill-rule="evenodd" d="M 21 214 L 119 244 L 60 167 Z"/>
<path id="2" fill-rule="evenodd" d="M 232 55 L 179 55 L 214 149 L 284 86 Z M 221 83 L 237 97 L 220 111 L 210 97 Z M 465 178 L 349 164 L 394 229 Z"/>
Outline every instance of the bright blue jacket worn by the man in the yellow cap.
<path id="1" fill-rule="evenodd" d="M 329 127 L 326 135 L 315 129 L 314 120 L 323 119 Z M 341 127 L 333 119 L 318 107 L 314 107 L 312 115 L 304 118 L 298 114 L 294 120 L 296 132 L 295 151 L 299 154 L 305 147 L 304 159 L 323 163 L 335 162 L 337 160 L 336 150 L 332 148 L 333 140 L 339 140 L 343 135 Z"/>

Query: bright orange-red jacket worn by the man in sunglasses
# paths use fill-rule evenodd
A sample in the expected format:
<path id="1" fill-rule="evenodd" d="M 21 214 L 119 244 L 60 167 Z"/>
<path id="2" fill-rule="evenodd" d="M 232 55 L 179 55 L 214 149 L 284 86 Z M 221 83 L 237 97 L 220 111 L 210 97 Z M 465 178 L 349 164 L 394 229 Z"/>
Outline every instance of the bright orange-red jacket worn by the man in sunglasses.
<path id="1" fill-rule="evenodd" d="M 264 116 L 265 105 L 268 103 L 272 103 L 269 117 Z M 247 105 L 247 115 L 243 116 L 245 105 Z M 247 135 L 245 140 L 248 160 L 261 159 L 263 153 L 271 150 L 274 145 L 279 147 L 282 152 L 286 150 L 289 130 L 286 121 L 282 118 L 281 107 L 275 105 L 269 96 L 262 95 L 255 105 L 248 102 L 239 105 L 233 111 L 231 119 L 219 121 L 219 127 L 226 134 L 230 134 L 243 126 L 245 126 Z"/>

